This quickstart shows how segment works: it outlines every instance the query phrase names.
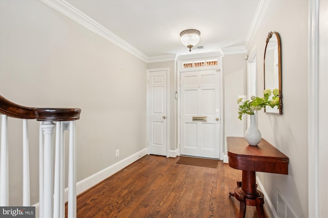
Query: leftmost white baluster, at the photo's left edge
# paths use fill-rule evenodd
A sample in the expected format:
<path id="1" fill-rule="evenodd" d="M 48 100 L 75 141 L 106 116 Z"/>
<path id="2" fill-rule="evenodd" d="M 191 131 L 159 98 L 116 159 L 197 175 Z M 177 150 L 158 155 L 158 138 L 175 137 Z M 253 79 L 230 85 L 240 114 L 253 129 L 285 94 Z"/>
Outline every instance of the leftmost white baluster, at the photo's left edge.
<path id="1" fill-rule="evenodd" d="M 7 115 L 1 115 L 0 206 L 9 206 Z"/>

